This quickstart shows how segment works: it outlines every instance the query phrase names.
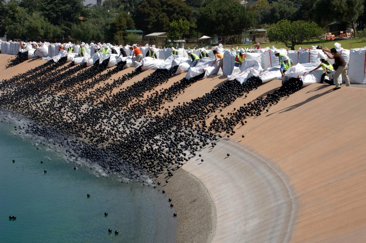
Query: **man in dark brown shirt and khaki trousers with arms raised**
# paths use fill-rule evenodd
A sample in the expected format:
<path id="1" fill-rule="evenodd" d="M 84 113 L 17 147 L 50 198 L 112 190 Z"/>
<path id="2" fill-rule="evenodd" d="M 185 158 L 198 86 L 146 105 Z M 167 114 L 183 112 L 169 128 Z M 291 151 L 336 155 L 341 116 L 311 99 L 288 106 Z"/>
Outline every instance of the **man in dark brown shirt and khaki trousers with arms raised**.
<path id="1" fill-rule="evenodd" d="M 334 83 L 336 85 L 334 90 L 341 88 L 340 83 L 342 83 L 342 79 L 340 79 L 340 75 L 342 75 L 342 78 L 344 78 L 344 80 L 346 81 L 346 86 L 350 87 L 351 86 L 350 79 L 348 78 L 347 75 L 347 69 L 348 69 L 347 63 L 344 61 L 340 53 L 337 52 L 336 48 L 330 49 L 330 53 L 333 56 L 330 56 L 328 52 L 325 52 L 325 54 L 328 56 L 328 59 L 334 59 L 334 64 L 337 69 L 333 75 Z"/>

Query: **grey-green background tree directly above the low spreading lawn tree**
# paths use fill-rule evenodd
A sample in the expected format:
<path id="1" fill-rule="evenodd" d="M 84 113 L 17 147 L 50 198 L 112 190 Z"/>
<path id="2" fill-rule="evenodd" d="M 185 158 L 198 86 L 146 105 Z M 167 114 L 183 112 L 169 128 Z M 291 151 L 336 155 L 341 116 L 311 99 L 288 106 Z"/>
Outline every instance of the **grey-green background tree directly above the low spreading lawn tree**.
<path id="1" fill-rule="evenodd" d="M 296 12 L 294 3 L 290 0 L 272 1 L 269 14 L 266 15 L 266 23 L 277 23 L 281 19 L 292 19 Z"/>

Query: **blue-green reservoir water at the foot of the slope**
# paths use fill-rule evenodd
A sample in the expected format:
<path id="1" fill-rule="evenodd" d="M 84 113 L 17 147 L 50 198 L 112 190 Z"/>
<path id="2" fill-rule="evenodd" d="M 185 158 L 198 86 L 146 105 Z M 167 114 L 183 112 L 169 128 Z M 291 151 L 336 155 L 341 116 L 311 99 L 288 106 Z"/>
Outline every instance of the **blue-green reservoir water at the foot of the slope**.
<path id="1" fill-rule="evenodd" d="M 0 123 L 1 243 L 175 242 L 175 210 L 158 188 L 74 170 L 62 154 L 36 147 Z"/>

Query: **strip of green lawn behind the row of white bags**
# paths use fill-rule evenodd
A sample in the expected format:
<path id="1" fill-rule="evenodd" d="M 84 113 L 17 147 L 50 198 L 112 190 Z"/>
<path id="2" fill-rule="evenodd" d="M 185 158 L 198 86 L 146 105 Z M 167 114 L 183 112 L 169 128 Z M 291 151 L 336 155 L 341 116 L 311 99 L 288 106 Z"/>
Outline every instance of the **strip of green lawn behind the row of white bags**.
<path id="1" fill-rule="evenodd" d="M 329 49 L 335 47 L 334 43 L 340 43 L 341 47 L 343 47 L 344 49 L 353 49 L 353 48 L 361 48 L 366 46 L 366 41 L 361 41 L 359 39 L 347 39 L 347 40 L 334 40 L 334 41 L 326 41 L 324 43 L 324 45 L 322 45 L 322 43 L 319 40 L 313 40 L 313 41 L 309 41 L 309 42 L 303 42 L 301 45 L 295 45 L 295 50 L 299 49 L 299 47 L 304 46 L 304 47 L 308 47 L 311 48 L 311 46 L 317 46 L 317 45 L 322 45 L 322 46 L 326 46 Z M 269 48 L 271 48 L 272 46 L 275 46 L 276 48 L 284 48 L 287 49 L 285 44 L 283 44 L 282 42 L 278 42 L 276 44 L 276 42 L 269 42 L 269 43 L 264 43 L 261 44 L 261 47 L 264 48 L 266 46 L 268 46 Z M 227 45 L 227 48 L 230 48 L 231 46 Z M 239 46 L 238 48 L 254 48 L 254 45 L 242 45 Z M 236 49 L 236 45 L 234 45 L 234 49 Z"/>

